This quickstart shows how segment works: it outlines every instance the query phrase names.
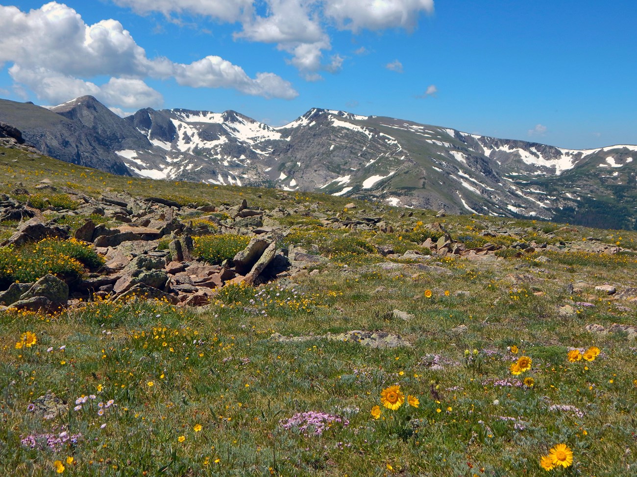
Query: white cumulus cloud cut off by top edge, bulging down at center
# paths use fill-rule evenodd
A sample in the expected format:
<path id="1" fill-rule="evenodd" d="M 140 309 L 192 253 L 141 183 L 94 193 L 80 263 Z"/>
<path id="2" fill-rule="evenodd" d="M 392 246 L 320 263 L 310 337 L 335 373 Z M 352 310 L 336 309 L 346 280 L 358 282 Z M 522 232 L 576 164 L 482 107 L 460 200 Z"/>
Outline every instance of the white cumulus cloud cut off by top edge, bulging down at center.
<path id="1" fill-rule="evenodd" d="M 431 14 L 434 0 L 113 0 L 139 13 L 158 11 L 192 13 L 215 20 L 238 22 L 235 39 L 275 43 L 279 51 L 309 81 L 320 71 L 339 71 L 334 62 L 324 63 L 331 50 L 329 29 L 359 32 L 387 28 L 415 28 L 422 13 Z M 367 53 L 361 47 L 355 54 Z M 334 58 L 334 57 L 332 57 Z"/>

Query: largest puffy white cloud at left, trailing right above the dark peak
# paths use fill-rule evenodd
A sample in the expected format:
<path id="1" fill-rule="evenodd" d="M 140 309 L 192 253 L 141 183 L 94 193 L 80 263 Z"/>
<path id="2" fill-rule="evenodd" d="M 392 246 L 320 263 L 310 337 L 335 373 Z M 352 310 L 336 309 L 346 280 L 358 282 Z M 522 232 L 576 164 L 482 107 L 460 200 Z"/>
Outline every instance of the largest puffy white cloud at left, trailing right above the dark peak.
<path id="1" fill-rule="evenodd" d="M 189 6 L 208 3 L 191 1 Z M 182 85 L 235 88 L 268 98 L 297 95 L 288 81 L 273 73 L 250 78 L 241 67 L 219 57 L 189 65 L 164 57 L 149 59 L 117 20 L 87 25 L 75 10 L 56 2 L 28 13 L 0 6 L 0 31 L 0 64 L 12 63 L 9 73 L 13 80 L 50 102 L 90 94 L 109 106 L 161 106 L 161 94 L 148 86 L 145 78 L 175 78 Z M 203 78 L 196 78 L 202 73 Z M 103 85 L 88 80 L 97 76 L 110 79 Z"/>

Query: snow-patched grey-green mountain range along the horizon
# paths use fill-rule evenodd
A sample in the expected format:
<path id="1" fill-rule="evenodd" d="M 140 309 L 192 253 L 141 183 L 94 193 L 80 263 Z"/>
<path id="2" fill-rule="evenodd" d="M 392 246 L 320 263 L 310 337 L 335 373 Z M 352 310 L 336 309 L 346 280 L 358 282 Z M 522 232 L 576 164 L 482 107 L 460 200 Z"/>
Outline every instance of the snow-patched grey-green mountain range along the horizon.
<path id="1" fill-rule="evenodd" d="M 43 154 L 120 175 L 637 228 L 634 145 L 564 149 L 319 108 L 282 127 L 235 111 L 120 118 L 91 96 L 50 108 L 0 100 L 0 121 Z"/>

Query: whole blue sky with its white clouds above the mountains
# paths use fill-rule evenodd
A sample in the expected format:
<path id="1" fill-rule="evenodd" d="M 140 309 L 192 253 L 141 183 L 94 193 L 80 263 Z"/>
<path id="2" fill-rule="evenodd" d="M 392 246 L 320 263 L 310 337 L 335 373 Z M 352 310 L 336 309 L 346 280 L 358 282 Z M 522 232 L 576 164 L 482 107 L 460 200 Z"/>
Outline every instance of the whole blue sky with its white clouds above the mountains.
<path id="1" fill-rule="evenodd" d="M 0 0 L 0 97 L 637 144 L 637 2 Z"/>

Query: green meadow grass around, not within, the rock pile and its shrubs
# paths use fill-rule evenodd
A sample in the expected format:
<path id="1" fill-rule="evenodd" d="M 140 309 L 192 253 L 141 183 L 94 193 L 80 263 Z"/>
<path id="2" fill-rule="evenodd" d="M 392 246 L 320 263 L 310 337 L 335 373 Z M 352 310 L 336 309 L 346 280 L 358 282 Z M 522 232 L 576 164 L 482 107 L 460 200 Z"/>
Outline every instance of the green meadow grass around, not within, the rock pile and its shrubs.
<path id="1" fill-rule="evenodd" d="M 52 180 L 84 184 L 83 193 L 90 192 L 92 179 L 76 177 L 80 169 L 47 164 L 59 168 Z M 11 166 L 11 180 L 27 189 L 29 180 L 41 178 L 18 166 Z M 82 172 L 82 179 L 103 174 Z M 155 191 L 165 186 L 105 180 L 114 190 L 131 186 L 133 195 L 149 184 Z M 198 184 L 180 184 L 180 195 L 182 202 L 213 205 L 247 198 L 270 209 L 318 203 L 326 216 L 343 214 L 349 202 Z M 637 286 L 633 252 L 536 251 L 493 262 L 431 257 L 427 265 L 439 268 L 397 263 L 385 269 L 377 264 L 391 259 L 377 246 L 418 249 L 427 237 L 422 224 L 441 219 L 431 211 L 401 218 L 401 209 L 357 204 L 366 209 L 361 214 L 382 215 L 394 232 L 334 230 L 303 215 L 291 223 L 288 216 L 282 220 L 292 232 L 283 240 L 308 251 L 315 245 L 314 252 L 331 255 L 329 263 L 260 287 L 226 286 L 206 308 L 96 300 L 56 315 L 6 312 L 0 472 L 57 475 L 59 460 L 62 475 L 82 476 L 634 475 L 637 345 L 626 334 L 585 329 L 634 324 L 637 303 L 594 289 Z M 637 239 L 634 232 L 503 224 L 482 216 L 443 220 L 453 239 L 471 235 L 502 244 L 513 239 L 478 232 L 516 228 L 515 241 L 558 240 L 546 236 L 557 234 L 613 244 L 621 237 L 630 250 Z M 230 253 L 215 247 L 215 256 Z M 571 293 L 568 285 L 577 282 L 587 285 Z M 560 314 L 566 304 L 572 315 Z M 413 317 L 394 317 L 394 309 Z M 317 337 L 354 329 L 397 333 L 412 347 L 369 349 Z M 36 337 L 28 347 L 27 331 Z M 277 342 L 273 333 L 315 337 Z M 594 361 L 568 361 L 569 349 L 593 345 L 601 350 Z M 520 356 L 531 357 L 531 368 L 513 375 Z M 405 399 L 397 410 L 381 401 L 393 385 Z M 44 420 L 31 411 L 47 392 L 65 401 L 68 412 Z M 408 394 L 419 400 L 417 408 L 408 405 Z M 540 459 L 559 443 L 573 450 L 573 464 L 547 473 Z"/>

